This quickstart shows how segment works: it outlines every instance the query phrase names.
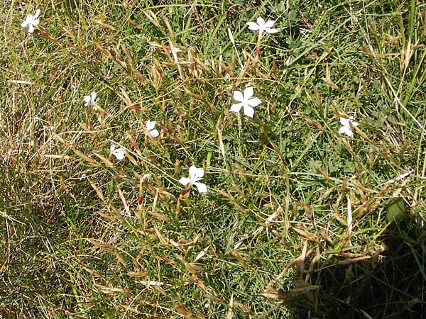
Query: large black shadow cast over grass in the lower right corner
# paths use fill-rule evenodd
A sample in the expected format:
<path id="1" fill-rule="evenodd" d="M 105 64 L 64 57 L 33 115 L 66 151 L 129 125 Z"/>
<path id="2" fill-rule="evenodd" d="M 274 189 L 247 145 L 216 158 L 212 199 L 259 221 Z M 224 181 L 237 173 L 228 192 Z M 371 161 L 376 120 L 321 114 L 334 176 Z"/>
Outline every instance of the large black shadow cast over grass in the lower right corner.
<path id="1" fill-rule="evenodd" d="M 412 226 L 410 226 L 412 227 Z M 421 230 L 388 230 L 386 250 L 353 264 L 322 264 L 312 273 L 312 294 L 290 303 L 295 318 L 426 318 L 425 246 Z"/>

